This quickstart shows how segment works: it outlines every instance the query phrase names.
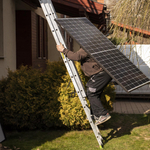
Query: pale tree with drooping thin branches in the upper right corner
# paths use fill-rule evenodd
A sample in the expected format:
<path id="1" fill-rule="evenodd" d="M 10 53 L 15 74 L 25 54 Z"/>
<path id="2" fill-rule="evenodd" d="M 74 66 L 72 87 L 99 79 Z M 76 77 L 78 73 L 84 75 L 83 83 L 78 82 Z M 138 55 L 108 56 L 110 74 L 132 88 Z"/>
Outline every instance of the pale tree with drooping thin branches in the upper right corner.
<path id="1" fill-rule="evenodd" d="M 149 44 L 145 33 L 150 29 L 150 0 L 119 0 L 111 15 L 112 38 L 120 39 L 120 44 Z"/>

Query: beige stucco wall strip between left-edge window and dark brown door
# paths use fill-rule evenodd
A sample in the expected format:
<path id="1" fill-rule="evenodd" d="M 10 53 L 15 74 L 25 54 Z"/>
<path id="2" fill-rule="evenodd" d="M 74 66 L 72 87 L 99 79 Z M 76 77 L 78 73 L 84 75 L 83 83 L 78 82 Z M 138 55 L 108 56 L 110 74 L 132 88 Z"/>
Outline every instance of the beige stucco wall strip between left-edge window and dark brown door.
<path id="1" fill-rule="evenodd" d="M 3 49 L 4 59 L 0 59 L 0 78 L 7 76 L 7 68 L 16 69 L 16 29 L 15 1 L 3 1 Z"/>

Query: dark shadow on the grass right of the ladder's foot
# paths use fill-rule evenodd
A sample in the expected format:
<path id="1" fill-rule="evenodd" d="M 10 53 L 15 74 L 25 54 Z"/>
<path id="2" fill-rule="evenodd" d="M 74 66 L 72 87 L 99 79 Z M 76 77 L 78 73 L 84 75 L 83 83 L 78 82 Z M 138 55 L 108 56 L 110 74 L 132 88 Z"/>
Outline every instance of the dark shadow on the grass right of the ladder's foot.
<path id="1" fill-rule="evenodd" d="M 106 123 L 102 124 L 99 129 L 111 129 L 107 136 L 103 137 L 104 145 L 113 138 L 121 137 L 123 135 L 130 135 L 135 127 L 147 125 L 150 123 L 150 114 L 148 115 L 127 115 L 112 113 L 112 118 Z"/>

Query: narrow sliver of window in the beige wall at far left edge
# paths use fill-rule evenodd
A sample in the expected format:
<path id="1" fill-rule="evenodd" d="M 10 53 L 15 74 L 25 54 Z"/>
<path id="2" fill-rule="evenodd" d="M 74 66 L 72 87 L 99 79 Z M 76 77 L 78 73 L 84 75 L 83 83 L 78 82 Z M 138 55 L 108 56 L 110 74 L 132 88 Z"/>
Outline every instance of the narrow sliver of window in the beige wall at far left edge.
<path id="1" fill-rule="evenodd" d="M 3 1 L 0 1 L 0 58 L 4 58 L 4 49 L 3 49 Z"/>

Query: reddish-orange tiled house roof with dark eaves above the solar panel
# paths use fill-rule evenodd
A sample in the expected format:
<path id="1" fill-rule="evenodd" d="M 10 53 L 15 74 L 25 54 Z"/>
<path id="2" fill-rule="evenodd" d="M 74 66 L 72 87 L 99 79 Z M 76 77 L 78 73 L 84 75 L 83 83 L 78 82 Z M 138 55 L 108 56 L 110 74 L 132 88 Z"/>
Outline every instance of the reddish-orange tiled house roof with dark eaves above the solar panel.
<path id="1" fill-rule="evenodd" d="M 38 0 L 22 0 L 32 7 L 40 7 Z M 91 22 L 103 24 L 106 5 L 92 0 L 52 0 L 56 12 L 70 17 L 87 16 Z"/>

